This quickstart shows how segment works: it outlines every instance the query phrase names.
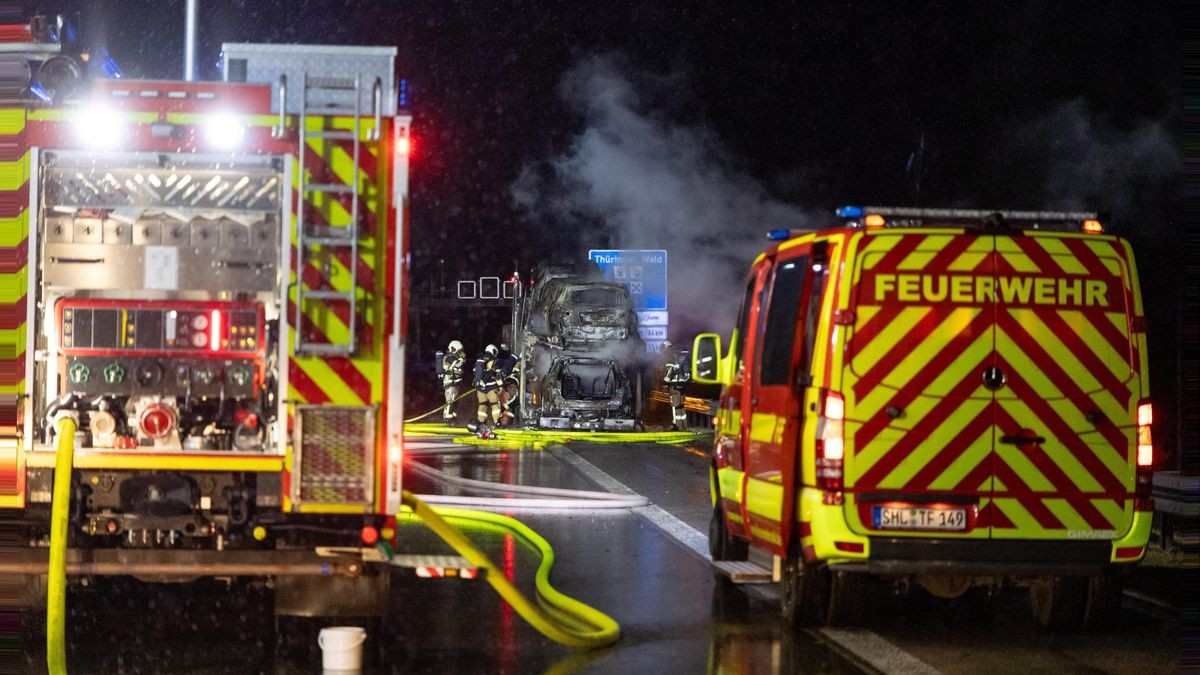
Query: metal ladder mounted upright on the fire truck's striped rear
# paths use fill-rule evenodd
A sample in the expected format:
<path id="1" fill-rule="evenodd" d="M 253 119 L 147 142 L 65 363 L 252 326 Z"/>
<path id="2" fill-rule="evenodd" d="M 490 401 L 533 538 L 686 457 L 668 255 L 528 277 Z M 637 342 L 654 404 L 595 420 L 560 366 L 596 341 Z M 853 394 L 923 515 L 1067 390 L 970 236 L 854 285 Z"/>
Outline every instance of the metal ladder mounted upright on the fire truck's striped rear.
<path id="1" fill-rule="evenodd" d="M 366 151 L 362 145 L 360 124 L 362 120 L 362 76 L 349 77 L 310 77 L 302 76 L 302 96 L 300 100 L 300 204 L 296 209 L 296 313 L 295 313 L 295 351 L 308 354 L 350 354 L 356 345 L 358 323 L 358 259 L 359 259 L 359 231 L 361 215 L 359 211 L 359 189 L 361 186 L 361 168 L 359 167 L 359 155 Z M 377 77 L 372 85 L 372 107 L 374 113 L 374 126 L 368 131 L 367 143 L 379 141 L 379 124 L 382 110 L 382 83 Z M 308 129 L 308 118 L 322 117 L 354 117 L 354 126 L 350 129 Z M 349 141 L 352 145 L 353 169 L 350 172 L 349 185 L 340 183 L 316 183 L 305 166 L 305 156 L 308 154 L 308 139 L 322 138 L 326 142 Z M 305 217 L 306 202 L 312 195 L 322 193 L 326 199 L 340 199 L 341 196 L 349 196 L 349 221 L 329 222 L 328 225 L 310 223 Z M 318 269 L 325 269 L 329 276 L 331 263 L 329 257 L 341 251 L 349 253 L 347 269 L 349 271 L 349 289 L 323 289 L 306 288 L 301 275 L 307 265 L 314 264 Z M 341 304 L 348 307 L 349 325 L 344 333 L 344 341 L 314 340 L 306 335 L 304 330 L 304 317 L 313 316 L 307 310 L 328 310 L 329 305 Z M 316 306 L 314 306 L 316 305 Z"/>

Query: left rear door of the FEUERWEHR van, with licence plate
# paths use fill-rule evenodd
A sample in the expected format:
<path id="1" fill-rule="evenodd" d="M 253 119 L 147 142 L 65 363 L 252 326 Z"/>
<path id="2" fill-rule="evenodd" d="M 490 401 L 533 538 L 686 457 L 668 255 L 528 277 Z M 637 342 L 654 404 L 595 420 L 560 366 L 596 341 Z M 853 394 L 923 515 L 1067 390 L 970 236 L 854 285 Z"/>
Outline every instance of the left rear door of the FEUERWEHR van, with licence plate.
<path id="1" fill-rule="evenodd" d="M 992 238 L 865 231 L 850 258 L 846 520 L 862 534 L 988 538 Z"/>

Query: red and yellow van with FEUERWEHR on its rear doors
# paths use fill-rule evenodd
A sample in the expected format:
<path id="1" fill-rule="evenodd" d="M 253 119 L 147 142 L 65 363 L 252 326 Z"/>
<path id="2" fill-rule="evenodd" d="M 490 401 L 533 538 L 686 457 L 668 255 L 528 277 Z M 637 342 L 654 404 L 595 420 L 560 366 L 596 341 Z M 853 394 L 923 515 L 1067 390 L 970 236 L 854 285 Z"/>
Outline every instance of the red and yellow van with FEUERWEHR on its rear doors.
<path id="1" fill-rule="evenodd" d="M 838 215 L 773 233 L 730 342 L 696 338 L 694 378 L 724 384 L 718 567 L 770 561 L 802 622 L 853 621 L 884 584 L 1111 619 L 1153 509 L 1129 244 L 1085 213 Z"/>

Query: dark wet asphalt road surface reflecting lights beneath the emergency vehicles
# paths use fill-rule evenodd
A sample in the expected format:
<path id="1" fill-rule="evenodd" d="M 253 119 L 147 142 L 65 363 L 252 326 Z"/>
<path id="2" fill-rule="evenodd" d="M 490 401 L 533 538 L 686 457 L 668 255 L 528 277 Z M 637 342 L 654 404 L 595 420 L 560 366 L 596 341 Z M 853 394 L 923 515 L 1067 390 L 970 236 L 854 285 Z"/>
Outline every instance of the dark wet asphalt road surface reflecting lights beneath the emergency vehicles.
<path id="1" fill-rule="evenodd" d="M 1117 631 L 1102 635 L 1043 635 L 1019 590 L 982 608 L 920 592 L 881 595 L 862 628 L 786 631 L 770 586 L 722 590 L 694 550 L 703 545 L 709 514 L 707 459 L 700 448 L 571 443 L 569 450 L 498 452 L 460 446 L 414 459 L 474 479 L 624 486 L 656 508 L 512 514 L 554 546 L 554 586 L 620 623 L 617 645 L 595 652 L 559 646 L 482 581 L 406 579 L 394 584 L 385 620 L 361 622 L 370 635 L 366 673 L 858 673 L 871 665 L 910 673 L 1175 670 L 1177 620 L 1126 613 Z M 466 494 L 425 477 L 406 485 L 425 494 Z M 494 532 L 469 534 L 532 592 L 535 552 Z M 400 538 L 402 550 L 450 552 L 420 526 L 406 526 Z M 72 673 L 318 673 L 318 628 L 347 623 L 276 625 L 270 590 L 216 581 L 104 580 L 74 590 L 70 602 Z M 25 619 L 32 625 L 26 637 L 40 640 L 37 616 Z M 40 651 L 36 643 L 26 645 L 28 659 L 40 662 Z"/>

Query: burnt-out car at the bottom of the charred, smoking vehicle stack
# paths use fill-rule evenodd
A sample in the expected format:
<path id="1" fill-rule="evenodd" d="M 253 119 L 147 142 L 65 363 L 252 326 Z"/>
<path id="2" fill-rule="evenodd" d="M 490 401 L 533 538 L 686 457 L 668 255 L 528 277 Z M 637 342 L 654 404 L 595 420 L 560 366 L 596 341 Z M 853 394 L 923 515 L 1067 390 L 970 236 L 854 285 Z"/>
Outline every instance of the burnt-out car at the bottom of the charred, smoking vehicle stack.
<path id="1" fill-rule="evenodd" d="M 538 423 L 545 429 L 636 425 L 629 378 L 614 359 L 558 357 L 540 382 Z"/>

